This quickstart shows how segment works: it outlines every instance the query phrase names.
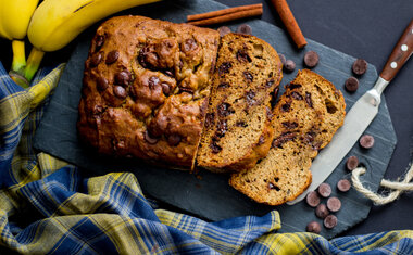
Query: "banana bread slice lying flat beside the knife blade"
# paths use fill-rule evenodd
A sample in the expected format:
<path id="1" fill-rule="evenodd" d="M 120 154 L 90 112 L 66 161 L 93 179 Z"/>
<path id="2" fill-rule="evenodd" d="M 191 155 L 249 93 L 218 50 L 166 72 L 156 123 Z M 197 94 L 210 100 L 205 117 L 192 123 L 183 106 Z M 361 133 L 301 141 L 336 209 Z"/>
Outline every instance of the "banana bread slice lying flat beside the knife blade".
<path id="1" fill-rule="evenodd" d="M 343 124 L 345 110 L 345 99 L 331 82 L 299 71 L 274 109 L 267 156 L 252 169 L 233 174 L 229 184 L 268 205 L 295 200 L 311 183 L 312 160 Z"/>

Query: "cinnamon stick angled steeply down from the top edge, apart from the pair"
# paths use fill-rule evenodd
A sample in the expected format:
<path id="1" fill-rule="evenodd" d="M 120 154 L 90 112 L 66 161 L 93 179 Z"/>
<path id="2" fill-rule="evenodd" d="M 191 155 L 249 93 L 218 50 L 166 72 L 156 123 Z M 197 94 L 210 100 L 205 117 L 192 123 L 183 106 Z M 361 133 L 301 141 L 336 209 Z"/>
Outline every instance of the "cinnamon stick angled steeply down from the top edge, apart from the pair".
<path id="1" fill-rule="evenodd" d="M 287 28 L 288 34 L 291 36 L 292 40 L 297 44 L 297 47 L 303 48 L 306 46 L 306 41 L 300 27 L 297 24 L 295 16 L 286 0 L 271 0 L 274 8 L 276 9 L 279 17 L 281 18 L 284 25 Z"/>

